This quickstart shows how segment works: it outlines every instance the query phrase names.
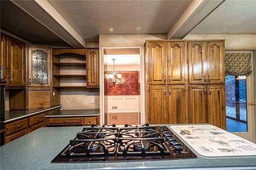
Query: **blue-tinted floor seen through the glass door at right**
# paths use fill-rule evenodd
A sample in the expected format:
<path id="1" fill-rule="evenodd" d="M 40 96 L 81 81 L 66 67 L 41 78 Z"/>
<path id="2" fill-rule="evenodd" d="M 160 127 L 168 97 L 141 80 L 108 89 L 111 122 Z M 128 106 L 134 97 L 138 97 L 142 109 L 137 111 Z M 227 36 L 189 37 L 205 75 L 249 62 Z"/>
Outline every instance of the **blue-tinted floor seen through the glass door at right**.
<path id="1" fill-rule="evenodd" d="M 235 117 L 236 115 L 236 108 L 226 106 L 226 115 L 229 117 Z M 240 109 L 240 119 L 243 121 L 247 120 L 246 110 Z M 247 131 L 247 124 L 242 123 L 239 121 L 235 121 L 233 119 L 226 119 L 227 122 L 227 131 L 228 132 L 246 132 Z"/>

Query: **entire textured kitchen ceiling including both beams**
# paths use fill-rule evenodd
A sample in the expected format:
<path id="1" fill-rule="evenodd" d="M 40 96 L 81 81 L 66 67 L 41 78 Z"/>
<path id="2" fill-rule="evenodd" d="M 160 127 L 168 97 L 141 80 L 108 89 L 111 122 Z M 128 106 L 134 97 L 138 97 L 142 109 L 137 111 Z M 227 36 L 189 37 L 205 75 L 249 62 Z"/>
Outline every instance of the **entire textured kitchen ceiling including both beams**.
<path id="1" fill-rule="evenodd" d="M 256 0 L 0 0 L 1 32 L 86 47 L 99 34 L 256 33 Z"/>

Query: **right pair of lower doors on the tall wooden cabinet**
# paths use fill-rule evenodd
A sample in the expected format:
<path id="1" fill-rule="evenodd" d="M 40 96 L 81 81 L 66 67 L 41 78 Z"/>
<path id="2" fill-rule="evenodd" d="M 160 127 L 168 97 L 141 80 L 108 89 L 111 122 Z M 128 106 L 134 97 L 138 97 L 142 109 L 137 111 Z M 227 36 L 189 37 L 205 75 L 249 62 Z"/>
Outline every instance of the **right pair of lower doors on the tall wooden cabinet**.
<path id="1" fill-rule="evenodd" d="M 189 86 L 189 123 L 210 123 L 226 130 L 224 85 Z"/>

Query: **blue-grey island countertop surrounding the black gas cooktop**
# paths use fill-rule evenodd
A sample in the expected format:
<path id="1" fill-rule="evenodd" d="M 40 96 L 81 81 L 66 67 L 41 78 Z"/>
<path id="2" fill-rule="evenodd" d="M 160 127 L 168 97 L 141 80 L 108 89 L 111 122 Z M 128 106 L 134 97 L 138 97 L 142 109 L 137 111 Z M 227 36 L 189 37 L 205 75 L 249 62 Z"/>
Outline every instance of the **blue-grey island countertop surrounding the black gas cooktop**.
<path id="1" fill-rule="evenodd" d="M 170 127 L 170 125 L 165 125 Z M 0 147 L 0 168 L 52 169 L 256 169 L 256 156 L 204 157 L 128 162 L 51 163 L 82 127 L 43 127 Z M 192 148 L 190 148 L 193 150 Z M 194 150 L 193 150 L 194 151 Z"/>

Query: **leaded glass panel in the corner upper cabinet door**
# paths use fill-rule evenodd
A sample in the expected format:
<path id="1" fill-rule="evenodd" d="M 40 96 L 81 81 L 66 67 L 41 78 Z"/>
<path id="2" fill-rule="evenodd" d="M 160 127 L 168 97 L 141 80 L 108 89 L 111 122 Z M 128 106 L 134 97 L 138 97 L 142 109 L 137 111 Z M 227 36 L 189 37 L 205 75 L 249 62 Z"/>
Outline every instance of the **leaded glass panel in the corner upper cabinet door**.
<path id="1" fill-rule="evenodd" d="M 47 84 L 47 53 L 42 50 L 32 51 L 32 83 Z"/>

